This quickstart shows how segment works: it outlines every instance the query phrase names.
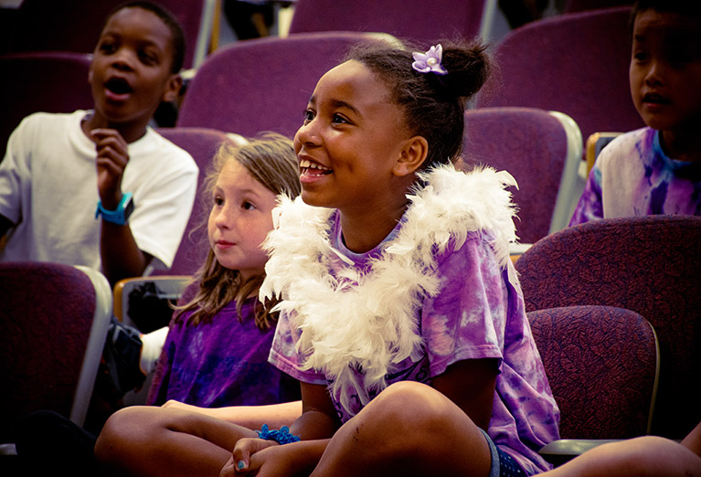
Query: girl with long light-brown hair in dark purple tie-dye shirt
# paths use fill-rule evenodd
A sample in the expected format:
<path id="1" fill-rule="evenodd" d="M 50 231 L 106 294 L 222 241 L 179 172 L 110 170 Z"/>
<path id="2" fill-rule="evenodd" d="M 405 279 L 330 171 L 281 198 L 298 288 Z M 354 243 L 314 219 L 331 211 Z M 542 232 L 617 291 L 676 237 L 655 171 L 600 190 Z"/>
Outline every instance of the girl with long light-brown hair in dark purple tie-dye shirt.
<path id="1" fill-rule="evenodd" d="M 265 135 L 223 144 L 207 177 L 207 260 L 196 291 L 176 309 L 155 368 L 149 404 L 200 408 L 299 398 L 299 386 L 267 363 L 277 313 L 258 300 L 268 259 L 260 243 L 276 196 L 299 194 L 292 142 Z"/>

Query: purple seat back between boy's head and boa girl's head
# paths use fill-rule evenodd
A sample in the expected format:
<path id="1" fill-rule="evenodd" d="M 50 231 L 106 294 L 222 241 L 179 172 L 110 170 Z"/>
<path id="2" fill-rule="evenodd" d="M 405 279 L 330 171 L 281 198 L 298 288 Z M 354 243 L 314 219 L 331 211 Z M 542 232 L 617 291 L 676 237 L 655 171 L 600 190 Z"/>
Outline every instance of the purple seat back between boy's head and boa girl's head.
<path id="1" fill-rule="evenodd" d="M 177 125 L 236 132 L 273 131 L 290 138 L 316 81 L 361 41 L 396 41 L 388 35 L 306 33 L 237 41 L 219 48 L 187 86 Z"/>

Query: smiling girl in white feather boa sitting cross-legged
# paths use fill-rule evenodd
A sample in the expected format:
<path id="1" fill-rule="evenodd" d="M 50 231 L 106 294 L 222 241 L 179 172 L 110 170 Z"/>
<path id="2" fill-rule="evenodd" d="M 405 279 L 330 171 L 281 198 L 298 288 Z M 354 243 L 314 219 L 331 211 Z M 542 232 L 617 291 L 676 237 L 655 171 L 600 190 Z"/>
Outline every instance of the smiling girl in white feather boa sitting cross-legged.
<path id="1" fill-rule="evenodd" d="M 281 300 L 269 361 L 300 381 L 302 416 L 273 434 L 115 420 L 96 449 L 105 471 L 550 469 L 537 451 L 558 439 L 559 412 L 509 259 L 514 180 L 452 165 L 489 60 L 479 45 L 445 47 L 355 50 L 319 80 L 295 135 L 302 195 L 281 201 L 260 294 Z"/>

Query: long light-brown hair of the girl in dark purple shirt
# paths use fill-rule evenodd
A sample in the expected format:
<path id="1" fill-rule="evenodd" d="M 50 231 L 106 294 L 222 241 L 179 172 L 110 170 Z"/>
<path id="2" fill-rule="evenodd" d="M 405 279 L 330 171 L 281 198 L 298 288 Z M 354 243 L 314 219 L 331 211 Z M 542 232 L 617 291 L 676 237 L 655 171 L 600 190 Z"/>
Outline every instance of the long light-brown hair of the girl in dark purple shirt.
<path id="1" fill-rule="evenodd" d="M 301 192 L 299 168 L 292 141 L 281 134 L 269 132 L 242 146 L 223 143 L 219 147 L 212 161 L 211 171 L 205 179 L 204 193 L 209 210 L 218 175 L 229 161 L 237 161 L 243 165 L 253 178 L 276 196 L 285 194 L 293 198 Z M 199 323 L 208 323 L 232 300 L 236 300 L 237 317 L 241 322 L 243 302 L 258 291 L 264 278 L 265 275 L 260 274 L 243 280 L 239 270 L 221 266 L 210 247 L 207 260 L 197 270 L 193 279 L 199 283 L 197 292 L 189 302 L 175 307 L 175 323 L 182 323 L 183 314 L 190 311 L 193 313 L 188 317 L 186 324 L 196 326 Z M 255 323 L 261 330 L 267 330 L 277 323 L 277 313 L 270 311 L 275 304 L 256 301 Z"/>

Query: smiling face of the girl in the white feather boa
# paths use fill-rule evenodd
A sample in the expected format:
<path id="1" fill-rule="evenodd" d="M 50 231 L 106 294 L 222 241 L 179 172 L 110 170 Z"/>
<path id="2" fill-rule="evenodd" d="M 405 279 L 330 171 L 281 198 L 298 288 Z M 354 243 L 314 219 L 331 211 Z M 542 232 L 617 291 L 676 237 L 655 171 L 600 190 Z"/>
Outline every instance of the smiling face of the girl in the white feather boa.
<path id="1" fill-rule="evenodd" d="M 365 65 L 346 61 L 316 85 L 294 138 L 304 202 L 365 215 L 405 202 L 393 168 L 409 139 L 403 110 Z"/>

